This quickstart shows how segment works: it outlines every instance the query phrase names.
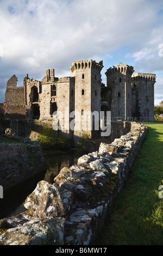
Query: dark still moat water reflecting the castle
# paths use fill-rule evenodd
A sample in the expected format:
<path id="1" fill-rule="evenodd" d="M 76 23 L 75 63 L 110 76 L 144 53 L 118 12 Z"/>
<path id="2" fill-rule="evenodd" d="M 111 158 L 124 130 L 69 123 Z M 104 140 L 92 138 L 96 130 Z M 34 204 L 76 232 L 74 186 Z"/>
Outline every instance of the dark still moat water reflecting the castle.
<path id="1" fill-rule="evenodd" d="M 57 176 L 63 167 L 70 167 L 77 164 L 80 156 L 84 155 L 81 151 L 70 151 L 69 153 L 60 153 L 46 155 L 45 159 L 48 164 L 48 169 L 35 175 L 20 185 L 12 187 L 7 192 L 4 191 L 3 199 L 0 199 L 0 219 L 11 217 L 20 212 L 26 211 L 23 203 L 27 196 L 32 193 L 40 180 L 46 180 L 53 183 L 53 179 Z"/>

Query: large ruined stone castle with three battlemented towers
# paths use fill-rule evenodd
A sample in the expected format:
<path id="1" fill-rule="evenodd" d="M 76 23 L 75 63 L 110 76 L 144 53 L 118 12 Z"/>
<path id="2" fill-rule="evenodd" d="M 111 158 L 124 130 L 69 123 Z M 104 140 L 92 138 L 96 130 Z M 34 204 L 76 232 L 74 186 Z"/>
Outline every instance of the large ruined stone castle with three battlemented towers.
<path id="1" fill-rule="evenodd" d="M 58 78 L 54 69 L 47 69 L 42 81 L 29 78 L 27 74 L 23 87 L 16 86 L 14 75 L 7 82 L 4 116 L 49 119 L 55 112 L 61 131 L 80 136 L 86 130 L 90 137 L 96 137 L 96 132 L 85 128 L 87 121 L 78 129 L 74 119 L 74 131 L 66 126 L 73 119 L 70 113 L 78 112 L 83 119 L 85 112 L 91 115 L 94 111 L 104 111 L 106 116 L 111 111 L 111 120 L 153 120 L 155 74 L 134 73 L 133 66 L 120 63 L 106 70 L 105 86 L 101 79 L 102 69 L 102 60 L 98 63 L 95 60 L 75 61 L 70 66 L 71 77 Z"/>

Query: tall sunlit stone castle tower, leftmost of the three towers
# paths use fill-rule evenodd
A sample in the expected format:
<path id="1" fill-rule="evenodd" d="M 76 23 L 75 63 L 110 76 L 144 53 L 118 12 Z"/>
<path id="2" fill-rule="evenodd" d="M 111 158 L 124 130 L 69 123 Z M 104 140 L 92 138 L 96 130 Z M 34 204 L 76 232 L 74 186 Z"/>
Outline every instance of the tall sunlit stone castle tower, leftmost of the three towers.
<path id="1" fill-rule="evenodd" d="M 99 133 L 91 113 L 101 111 L 101 70 L 103 62 L 80 60 L 73 62 L 70 70 L 75 77 L 74 110 L 76 121 L 74 135 L 87 133 L 90 138 Z M 96 116 L 97 118 L 97 116 Z M 97 119 L 96 119 L 97 121 Z"/>

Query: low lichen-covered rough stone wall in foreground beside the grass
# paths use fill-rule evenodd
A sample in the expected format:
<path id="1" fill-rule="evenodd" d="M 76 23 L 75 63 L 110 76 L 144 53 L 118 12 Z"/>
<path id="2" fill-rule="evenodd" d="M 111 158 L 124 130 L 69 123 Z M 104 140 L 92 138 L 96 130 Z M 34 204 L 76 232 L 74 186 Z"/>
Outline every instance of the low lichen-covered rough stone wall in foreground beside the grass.
<path id="1" fill-rule="evenodd" d="M 62 168 L 53 184 L 40 181 L 24 203 L 28 210 L 0 221 L 0 244 L 93 244 L 146 132 L 133 123 L 127 135 Z"/>

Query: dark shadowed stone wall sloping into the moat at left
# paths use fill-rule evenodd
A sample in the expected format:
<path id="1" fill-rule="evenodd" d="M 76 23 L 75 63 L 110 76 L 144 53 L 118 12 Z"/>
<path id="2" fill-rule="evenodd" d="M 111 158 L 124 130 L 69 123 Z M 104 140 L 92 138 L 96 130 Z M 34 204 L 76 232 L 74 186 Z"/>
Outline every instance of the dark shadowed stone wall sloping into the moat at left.
<path id="1" fill-rule="evenodd" d="M 47 168 L 40 144 L 0 143 L 0 185 L 3 190 L 30 178 Z"/>

